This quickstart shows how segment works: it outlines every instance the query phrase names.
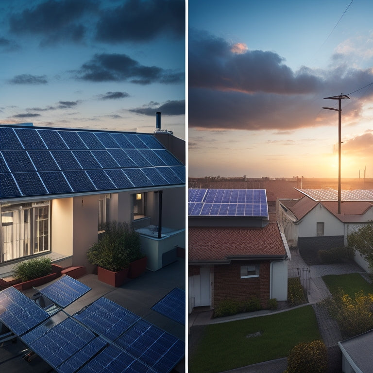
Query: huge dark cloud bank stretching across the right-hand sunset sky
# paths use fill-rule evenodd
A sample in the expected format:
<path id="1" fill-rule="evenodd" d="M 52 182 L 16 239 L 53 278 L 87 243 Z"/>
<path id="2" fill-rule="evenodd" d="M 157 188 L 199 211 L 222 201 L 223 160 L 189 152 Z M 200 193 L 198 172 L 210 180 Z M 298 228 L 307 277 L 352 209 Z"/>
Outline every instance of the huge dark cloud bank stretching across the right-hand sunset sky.
<path id="1" fill-rule="evenodd" d="M 335 104 L 324 97 L 348 94 L 373 81 L 370 69 L 339 65 L 293 72 L 276 53 L 233 47 L 221 38 L 191 33 L 189 127 L 284 131 L 324 125 L 331 114 L 322 107 Z M 343 102 L 344 115 L 357 121 L 363 103 Z"/>

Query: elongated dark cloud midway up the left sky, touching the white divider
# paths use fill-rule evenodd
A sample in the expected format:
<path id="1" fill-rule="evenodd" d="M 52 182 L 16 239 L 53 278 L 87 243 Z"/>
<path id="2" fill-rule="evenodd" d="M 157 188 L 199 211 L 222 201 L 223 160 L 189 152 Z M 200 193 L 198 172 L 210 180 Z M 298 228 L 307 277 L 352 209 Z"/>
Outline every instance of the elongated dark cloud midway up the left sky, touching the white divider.
<path id="1" fill-rule="evenodd" d="M 181 83 L 184 73 L 173 72 L 156 66 L 143 66 L 126 54 L 95 54 L 79 71 L 79 78 L 92 82 L 130 81 L 147 85 L 151 83 Z"/>

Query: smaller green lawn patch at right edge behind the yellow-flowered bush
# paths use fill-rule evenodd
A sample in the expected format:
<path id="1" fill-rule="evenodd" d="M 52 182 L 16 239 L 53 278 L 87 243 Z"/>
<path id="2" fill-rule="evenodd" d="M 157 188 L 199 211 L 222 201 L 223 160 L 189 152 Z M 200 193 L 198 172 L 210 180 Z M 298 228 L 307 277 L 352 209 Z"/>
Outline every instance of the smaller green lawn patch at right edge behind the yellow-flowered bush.
<path id="1" fill-rule="evenodd" d="M 355 293 L 360 290 L 363 290 L 364 294 L 373 293 L 373 285 L 367 282 L 359 273 L 329 274 L 322 276 L 322 279 L 332 294 L 338 288 L 342 288 L 351 297 L 355 296 Z"/>

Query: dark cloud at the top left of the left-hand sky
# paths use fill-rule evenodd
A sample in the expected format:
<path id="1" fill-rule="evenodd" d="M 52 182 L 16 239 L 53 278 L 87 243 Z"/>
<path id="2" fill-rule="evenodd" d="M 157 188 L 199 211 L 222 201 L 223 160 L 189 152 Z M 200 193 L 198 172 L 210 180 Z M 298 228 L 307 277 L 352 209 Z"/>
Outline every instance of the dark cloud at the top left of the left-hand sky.
<path id="1" fill-rule="evenodd" d="M 83 17 L 97 10 L 98 3 L 93 0 L 47 0 L 13 14 L 10 32 L 41 35 L 41 44 L 81 41 L 86 31 Z"/>

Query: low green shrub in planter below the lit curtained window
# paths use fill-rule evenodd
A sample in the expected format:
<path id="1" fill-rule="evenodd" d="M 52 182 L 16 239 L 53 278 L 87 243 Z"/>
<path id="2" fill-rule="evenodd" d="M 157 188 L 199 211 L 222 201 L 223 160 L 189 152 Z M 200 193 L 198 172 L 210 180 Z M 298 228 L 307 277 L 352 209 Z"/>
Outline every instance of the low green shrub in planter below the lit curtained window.
<path id="1" fill-rule="evenodd" d="M 12 270 L 12 277 L 20 282 L 43 277 L 52 271 L 52 259 L 48 256 L 32 258 L 15 264 Z"/>

